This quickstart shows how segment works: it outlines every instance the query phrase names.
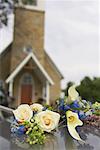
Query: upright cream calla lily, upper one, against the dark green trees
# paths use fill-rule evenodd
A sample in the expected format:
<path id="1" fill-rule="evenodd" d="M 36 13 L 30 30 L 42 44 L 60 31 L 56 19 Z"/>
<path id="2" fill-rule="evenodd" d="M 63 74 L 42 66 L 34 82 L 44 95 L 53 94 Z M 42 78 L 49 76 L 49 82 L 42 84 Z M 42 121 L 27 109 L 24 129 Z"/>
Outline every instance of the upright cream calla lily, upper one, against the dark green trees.
<path id="1" fill-rule="evenodd" d="M 76 91 L 75 89 L 75 85 L 72 85 L 69 89 L 68 89 L 68 98 L 67 98 L 67 103 L 72 103 L 75 100 L 77 100 L 79 98 L 79 93 Z"/>

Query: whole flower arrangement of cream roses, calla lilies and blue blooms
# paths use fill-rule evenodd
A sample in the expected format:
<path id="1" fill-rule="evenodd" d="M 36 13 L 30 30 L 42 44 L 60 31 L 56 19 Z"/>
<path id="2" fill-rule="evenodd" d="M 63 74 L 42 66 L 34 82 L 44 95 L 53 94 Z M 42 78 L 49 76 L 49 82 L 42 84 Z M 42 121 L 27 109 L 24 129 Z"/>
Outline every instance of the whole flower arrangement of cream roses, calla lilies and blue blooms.
<path id="1" fill-rule="evenodd" d="M 56 129 L 67 123 L 69 134 L 76 140 L 84 142 L 77 130 L 85 119 L 90 117 L 97 104 L 90 104 L 81 100 L 75 86 L 68 90 L 68 97 L 57 101 L 56 111 L 49 110 L 41 104 L 21 104 L 13 111 L 15 120 L 11 124 L 11 132 L 24 135 L 24 142 L 29 144 L 43 144 L 47 134 L 56 132 Z"/>

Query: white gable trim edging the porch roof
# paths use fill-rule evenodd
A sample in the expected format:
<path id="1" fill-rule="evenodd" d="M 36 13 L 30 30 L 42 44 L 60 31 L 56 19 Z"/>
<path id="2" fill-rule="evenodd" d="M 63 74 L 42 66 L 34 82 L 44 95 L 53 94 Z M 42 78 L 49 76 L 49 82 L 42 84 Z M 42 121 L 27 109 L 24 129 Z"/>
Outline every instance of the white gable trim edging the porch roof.
<path id="1" fill-rule="evenodd" d="M 45 78 L 48 80 L 48 82 L 51 85 L 53 85 L 54 84 L 53 80 L 48 75 L 48 73 L 43 68 L 43 66 L 40 64 L 40 62 L 38 61 L 38 59 L 36 58 L 36 56 L 34 55 L 34 53 L 32 53 L 32 52 L 29 53 L 29 55 L 27 55 L 26 58 L 24 58 L 24 60 L 18 65 L 18 67 L 10 74 L 10 76 L 6 79 L 6 83 L 9 83 L 11 80 L 13 80 L 16 77 L 16 75 L 21 71 L 21 69 L 27 64 L 27 62 L 31 58 L 36 63 L 36 65 L 38 66 L 38 68 L 40 69 L 40 71 L 43 73 L 43 75 L 45 76 Z"/>

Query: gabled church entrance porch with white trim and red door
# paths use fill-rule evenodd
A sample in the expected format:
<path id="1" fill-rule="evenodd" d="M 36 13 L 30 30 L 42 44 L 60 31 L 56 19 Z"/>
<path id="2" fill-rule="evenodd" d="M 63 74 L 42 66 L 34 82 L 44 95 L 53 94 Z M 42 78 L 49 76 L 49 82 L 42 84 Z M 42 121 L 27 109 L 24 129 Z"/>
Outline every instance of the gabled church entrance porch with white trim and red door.
<path id="1" fill-rule="evenodd" d="M 36 56 L 30 53 L 7 78 L 10 96 L 15 97 L 15 106 L 32 103 L 39 98 L 50 103 L 50 86 L 54 83 Z"/>

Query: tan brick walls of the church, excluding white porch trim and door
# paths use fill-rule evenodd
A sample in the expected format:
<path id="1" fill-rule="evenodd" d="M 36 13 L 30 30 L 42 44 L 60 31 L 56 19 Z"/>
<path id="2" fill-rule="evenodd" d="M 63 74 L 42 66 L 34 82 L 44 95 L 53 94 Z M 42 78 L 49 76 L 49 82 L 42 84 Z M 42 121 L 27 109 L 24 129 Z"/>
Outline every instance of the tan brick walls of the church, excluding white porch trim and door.
<path id="1" fill-rule="evenodd" d="M 27 57 L 29 51 L 31 51 L 54 82 L 54 85 L 50 86 L 50 103 L 54 103 L 54 100 L 60 96 L 61 79 L 63 77 L 44 50 L 44 19 L 44 11 L 26 8 L 15 9 L 14 41 L 3 52 L 2 57 L 0 56 L 0 78 L 5 81 Z M 27 51 L 27 48 L 30 48 L 29 51 Z M 15 101 L 12 104 L 13 107 L 21 103 L 20 83 L 25 73 L 32 75 L 34 81 L 33 87 L 35 86 L 35 90 L 32 90 L 34 95 L 32 101 L 35 102 L 43 97 L 43 87 L 46 84 L 46 79 L 40 74 L 39 68 L 33 60 L 32 62 L 30 60 L 28 63 L 29 66 L 26 64 L 14 78 L 13 96 Z M 2 66 L 5 67 L 3 68 Z"/>

